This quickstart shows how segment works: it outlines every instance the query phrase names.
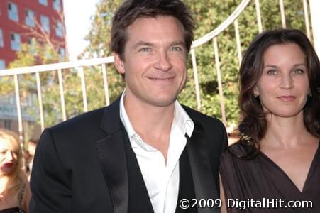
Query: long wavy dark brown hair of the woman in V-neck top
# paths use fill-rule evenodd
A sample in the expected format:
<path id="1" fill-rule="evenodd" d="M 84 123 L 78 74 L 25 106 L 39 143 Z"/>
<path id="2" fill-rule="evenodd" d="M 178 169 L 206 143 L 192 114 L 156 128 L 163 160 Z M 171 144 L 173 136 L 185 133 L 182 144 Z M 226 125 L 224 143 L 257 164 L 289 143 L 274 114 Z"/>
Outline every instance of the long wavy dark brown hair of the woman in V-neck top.
<path id="1" fill-rule="evenodd" d="M 239 107 L 242 121 L 238 126 L 240 139 L 236 144 L 245 148 L 239 158 L 253 158 L 260 151 L 260 139 L 265 136 L 265 112 L 254 89 L 263 72 L 263 54 L 272 45 L 294 43 L 306 56 L 311 96 L 304 106 L 304 125 L 314 136 L 320 137 L 320 63 L 313 45 L 304 33 L 296 29 L 277 29 L 257 35 L 243 55 L 239 71 Z M 232 150 L 232 149 L 231 149 Z"/>

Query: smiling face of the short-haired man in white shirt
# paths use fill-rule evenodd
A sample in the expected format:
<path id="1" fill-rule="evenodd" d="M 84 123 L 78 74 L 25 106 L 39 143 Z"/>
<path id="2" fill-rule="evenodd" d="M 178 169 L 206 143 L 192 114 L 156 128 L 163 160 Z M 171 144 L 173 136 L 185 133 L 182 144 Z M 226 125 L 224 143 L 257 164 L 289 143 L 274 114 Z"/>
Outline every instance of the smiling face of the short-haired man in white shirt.
<path id="1" fill-rule="evenodd" d="M 169 106 L 187 80 L 182 24 L 172 16 L 138 18 L 126 32 L 124 60 L 114 54 L 118 72 L 125 74 L 126 99 Z"/>

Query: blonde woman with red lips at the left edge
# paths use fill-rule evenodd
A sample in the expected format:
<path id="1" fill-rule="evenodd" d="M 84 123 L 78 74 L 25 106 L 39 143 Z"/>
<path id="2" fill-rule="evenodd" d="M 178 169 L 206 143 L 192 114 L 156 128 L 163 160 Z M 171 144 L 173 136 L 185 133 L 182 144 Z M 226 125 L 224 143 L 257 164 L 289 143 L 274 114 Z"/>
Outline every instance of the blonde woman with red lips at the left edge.
<path id="1" fill-rule="evenodd" d="M 31 190 L 18 136 L 0 129 L 0 212 L 28 212 Z"/>

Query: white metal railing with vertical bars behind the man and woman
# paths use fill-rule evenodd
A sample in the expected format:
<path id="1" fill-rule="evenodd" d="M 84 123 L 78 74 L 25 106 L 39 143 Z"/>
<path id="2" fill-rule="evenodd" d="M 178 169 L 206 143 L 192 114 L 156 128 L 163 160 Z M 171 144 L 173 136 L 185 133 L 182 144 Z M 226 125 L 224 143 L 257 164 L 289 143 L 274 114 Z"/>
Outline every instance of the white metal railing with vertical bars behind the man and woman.
<path id="1" fill-rule="evenodd" d="M 308 7 L 307 7 L 307 0 L 302 0 L 304 4 L 304 18 L 305 18 L 305 24 L 307 28 L 307 35 L 310 38 L 310 31 L 309 31 L 309 13 L 308 13 Z M 312 1 L 312 0 L 311 0 Z M 238 26 L 238 16 L 243 12 L 246 6 L 250 2 L 253 2 L 253 0 L 243 0 L 241 1 L 241 4 L 238 5 L 238 7 L 231 13 L 226 20 L 221 23 L 217 28 L 215 28 L 213 31 L 207 33 L 206 35 L 202 36 L 202 38 L 199 38 L 197 40 L 194 40 L 192 43 L 190 54 L 192 56 L 192 68 L 194 73 L 194 85 L 195 85 L 195 94 L 196 94 L 196 102 L 197 102 L 197 109 L 201 109 L 201 97 L 199 92 L 199 77 L 198 77 L 198 68 L 197 68 L 197 57 L 196 57 L 196 48 L 200 45 L 203 45 L 204 43 L 208 43 L 212 40 L 212 45 L 214 48 L 214 58 L 215 58 L 215 64 L 216 64 L 216 72 L 217 72 L 217 82 L 219 87 L 219 97 L 220 97 L 220 103 L 221 103 L 221 115 L 222 120 L 224 124 L 227 126 L 226 121 L 226 111 L 224 106 L 224 91 L 222 87 L 222 77 L 221 77 L 221 65 L 219 61 L 219 48 L 218 48 L 218 40 L 217 35 L 219 35 L 221 32 L 223 32 L 228 26 L 231 26 L 233 23 L 234 29 L 235 29 L 235 38 L 236 38 L 236 50 L 238 52 L 238 61 L 239 63 L 242 60 L 241 55 L 241 38 L 239 35 L 239 26 Z M 261 21 L 261 15 L 260 15 L 260 2 L 259 0 L 254 1 L 255 4 L 255 11 L 257 16 L 257 24 L 258 24 L 258 31 L 263 31 L 262 21 Z M 286 27 L 286 20 L 285 20 L 285 8 L 283 6 L 283 1 L 279 1 L 280 6 L 280 13 L 281 13 L 281 20 L 282 20 L 282 27 Z M 314 33 L 315 34 L 315 33 Z M 107 71 L 106 71 L 106 65 L 111 64 L 114 62 L 113 57 L 106 57 L 106 58 L 94 58 L 89 60 L 77 60 L 74 62 L 60 62 L 50 65 L 38 65 L 38 66 L 31 66 L 31 67 L 21 67 L 21 68 L 14 68 L 14 69 L 8 69 L 8 70 L 1 70 L 0 71 L 0 77 L 4 76 L 13 76 L 14 77 L 14 84 L 15 84 L 15 94 L 16 94 L 16 108 L 17 108 L 17 117 L 18 117 L 18 131 L 20 133 L 21 139 L 23 138 L 23 123 L 22 123 L 22 115 L 21 115 L 21 95 L 19 93 L 19 82 L 18 82 L 18 75 L 25 75 L 25 74 L 34 74 L 35 80 L 36 80 L 36 88 L 37 88 L 37 94 L 38 94 L 38 106 L 39 106 L 39 112 L 40 112 L 40 126 L 43 130 L 45 128 L 45 122 L 44 122 L 44 116 L 43 116 L 43 99 L 42 99 L 42 91 L 41 91 L 41 83 L 40 83 L 40 72 L 48 72 L 53 71 L 57 72 L 57 79 L 59 84 L 59 90 L 60 90 L 60 104 L 61 104 L 61 110 L 62 110 L 62 119 L 67 119 L 67 113 L 65 109 L 65 91 L 64 91 L 64 85 L 63 85 L 63 71 L 70 69 L 70 68 L 77 68 L 77 71 L 79 73 L 79 77 L 81 80 L 82 85 L 82 101 L 83 101 L 83 108 L 84 111 L 88 111 L 88 103 L 87 103 L 87 90 L 86 90 L 86 81 L 84 77 L 84 67 L 90 67 L 90 66 L 100 66 L 101 72 L 102 72 L 102 80 L 104 83 L 104 97 L 105 102 L 108 105 L 109 100 L 109 86 L 108 86 L 108 80 L 107 80 Z"/>

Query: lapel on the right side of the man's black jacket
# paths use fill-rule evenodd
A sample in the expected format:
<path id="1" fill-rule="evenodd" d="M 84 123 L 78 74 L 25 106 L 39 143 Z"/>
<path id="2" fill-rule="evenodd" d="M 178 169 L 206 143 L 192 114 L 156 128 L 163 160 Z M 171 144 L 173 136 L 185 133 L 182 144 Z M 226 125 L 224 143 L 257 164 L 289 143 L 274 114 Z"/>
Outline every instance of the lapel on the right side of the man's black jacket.
<path id="1" fill-rule="evenodd" d="M 194 123 L 192 137 L 187 137 L 187 151 L 189 154 L 190 167 L 194 180 L 194 192 L 199 199 L 218 199 L 214 176 L 212 175 L 209 155 L 205 141 L 204 131 L 201 124 Z M 220 212 L 216 208 L 199 208 L 199 213 Z"/>

